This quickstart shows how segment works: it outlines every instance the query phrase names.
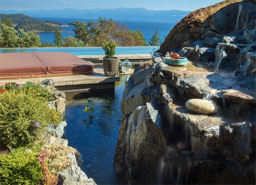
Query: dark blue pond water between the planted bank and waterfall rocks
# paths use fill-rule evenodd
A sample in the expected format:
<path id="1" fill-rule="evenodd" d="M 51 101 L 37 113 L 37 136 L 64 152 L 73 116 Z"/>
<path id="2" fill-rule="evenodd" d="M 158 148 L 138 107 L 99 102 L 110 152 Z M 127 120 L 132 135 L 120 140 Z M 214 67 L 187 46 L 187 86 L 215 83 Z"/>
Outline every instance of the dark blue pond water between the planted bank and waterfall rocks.
<path id="1" fill-rule="evenodd" d="M 68 146 L 76 148 L 84 162 L 80 168 L 96 184 L 126 184 L 114 170 L 114 152 L 122 121 L 121 100 L 126 77 L 117 82 L 114 93 L 103 91 L 67 94 L 65 119 Z M 85 107 L 95 107 L 92 118 Z"/>

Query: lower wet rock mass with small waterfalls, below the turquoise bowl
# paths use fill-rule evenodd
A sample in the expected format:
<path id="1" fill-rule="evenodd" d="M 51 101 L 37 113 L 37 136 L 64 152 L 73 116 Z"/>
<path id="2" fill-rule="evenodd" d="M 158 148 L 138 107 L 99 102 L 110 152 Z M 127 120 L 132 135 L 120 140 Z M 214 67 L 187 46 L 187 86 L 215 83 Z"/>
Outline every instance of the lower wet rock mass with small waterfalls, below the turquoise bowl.
<path id="1" fill-rule="evenodd" d="M 212 99 L 220 111 L 192 112 L 185 102 L 193 98 Z M 161 62 L 138 67 L 127 79 L 122 112 L 114 163 L 129 183 L 255 183 L 255 92 L 238 86 L 234 75 L 184 75 Z"/>

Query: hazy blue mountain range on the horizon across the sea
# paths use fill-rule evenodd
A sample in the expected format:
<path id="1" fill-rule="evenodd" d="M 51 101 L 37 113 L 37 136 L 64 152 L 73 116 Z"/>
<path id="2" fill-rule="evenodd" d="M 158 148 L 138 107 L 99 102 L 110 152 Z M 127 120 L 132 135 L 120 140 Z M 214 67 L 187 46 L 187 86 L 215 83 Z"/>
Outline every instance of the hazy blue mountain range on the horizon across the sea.
<path id="1" fill-rule="evenodd" d="M 181 10 L 146 10 L 144 8 L 117 8 L 117 9 L 52 9 L 52 10 L 23 10 L 1 11 L 2 14 L 25 14 L 30 17 L 67 17 L 67 18 L 111 18 L 114 20 L 129 21 L 159 21 L 177 22 L 190 11 Z"/>

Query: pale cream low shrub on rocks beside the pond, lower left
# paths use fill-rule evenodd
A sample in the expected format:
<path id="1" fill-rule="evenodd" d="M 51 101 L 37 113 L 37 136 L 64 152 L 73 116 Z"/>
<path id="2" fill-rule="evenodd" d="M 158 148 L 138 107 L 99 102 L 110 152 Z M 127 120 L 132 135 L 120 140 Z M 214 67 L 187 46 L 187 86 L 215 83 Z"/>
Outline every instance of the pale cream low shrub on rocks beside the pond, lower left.
<path id="1" fill-rule="evenodd" d="M 52 174 L 56 174 L 56 172 L 64 170 L 71 165 L 71 160 L 67 159 L 67 156 L 71 151 L 75 153 L 79 164 L 83 162 L 82 155 L 79 153 L 79 151 L 69 146 L 52 143 L 42 146 L 41 151 L 46 151 L 48 154 L 50 154 L 48 156 L 48 167 Z"/>

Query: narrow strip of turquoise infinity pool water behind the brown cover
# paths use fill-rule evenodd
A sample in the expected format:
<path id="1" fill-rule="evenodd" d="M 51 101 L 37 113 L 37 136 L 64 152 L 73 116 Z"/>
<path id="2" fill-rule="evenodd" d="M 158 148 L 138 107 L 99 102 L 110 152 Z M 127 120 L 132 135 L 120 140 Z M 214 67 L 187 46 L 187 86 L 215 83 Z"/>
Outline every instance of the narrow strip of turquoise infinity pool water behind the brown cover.
<path id="1" fill-rule="evenodd" d="M 121 54 L 150 54 L 158 50 L 159 46 L 148 47 L 117 47 L 116 55 Z M 37 47 L 37 48 L 1 48 L 0 53 L 18 52 L 68 52 L 73 55 L 104 55 L 101 47 Z"/>

